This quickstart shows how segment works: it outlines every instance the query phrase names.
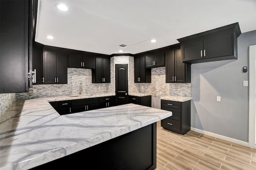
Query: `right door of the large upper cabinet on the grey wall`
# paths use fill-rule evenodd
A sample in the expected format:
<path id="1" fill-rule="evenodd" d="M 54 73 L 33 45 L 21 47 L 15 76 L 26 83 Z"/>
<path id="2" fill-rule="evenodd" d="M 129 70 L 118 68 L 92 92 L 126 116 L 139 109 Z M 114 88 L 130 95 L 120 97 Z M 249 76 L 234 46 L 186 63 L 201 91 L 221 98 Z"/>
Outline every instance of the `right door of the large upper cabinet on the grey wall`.
<path id="1" fill-rule="evenodd" d="M 222 33 L 207 37 L 204 40 L 204 50 L 205 59 L 234 55 L 232 54 L 232 35 Z"/>

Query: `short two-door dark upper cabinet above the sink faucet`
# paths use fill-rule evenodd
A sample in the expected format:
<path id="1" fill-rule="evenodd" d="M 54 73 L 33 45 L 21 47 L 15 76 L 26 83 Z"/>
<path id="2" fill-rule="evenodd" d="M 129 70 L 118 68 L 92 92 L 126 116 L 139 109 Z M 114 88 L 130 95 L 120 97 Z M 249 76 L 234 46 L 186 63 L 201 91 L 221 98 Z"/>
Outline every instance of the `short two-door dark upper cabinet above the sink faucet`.
<path id="1" fill-rule="evenodd" d="M 68 67 L 71 68 L 95 68 L 94 57 L 86 57 L 82 54 L 69 54 Z"/>

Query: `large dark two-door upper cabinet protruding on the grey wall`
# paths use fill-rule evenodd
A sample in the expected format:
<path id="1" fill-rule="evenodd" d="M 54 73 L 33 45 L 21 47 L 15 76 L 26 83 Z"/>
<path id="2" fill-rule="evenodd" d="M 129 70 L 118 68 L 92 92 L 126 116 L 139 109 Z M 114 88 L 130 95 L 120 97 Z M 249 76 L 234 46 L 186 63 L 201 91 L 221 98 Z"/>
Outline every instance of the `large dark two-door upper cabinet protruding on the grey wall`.
<path id="1" fill-rule="evenodd" d="M 202 63 L 237 59 L 237 37 L 241 34 L 239 24 L 233 23 L 178 39 L 184 63 Z"/>

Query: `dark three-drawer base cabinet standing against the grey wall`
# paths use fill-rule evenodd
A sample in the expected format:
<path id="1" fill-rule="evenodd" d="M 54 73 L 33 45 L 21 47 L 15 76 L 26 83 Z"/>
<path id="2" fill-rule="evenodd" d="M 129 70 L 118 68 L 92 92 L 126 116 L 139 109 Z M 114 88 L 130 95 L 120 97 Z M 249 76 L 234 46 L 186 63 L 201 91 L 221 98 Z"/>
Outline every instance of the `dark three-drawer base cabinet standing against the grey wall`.
<path id="1" fill-rule="evenodd" d="M 161 100 L 161 109 L 172 111 L 172 116 L 161 120 L 161 126 L 182 135 L 186 134 L 191 126 L 190 106 L 190 100 L 186 102 Z"/>

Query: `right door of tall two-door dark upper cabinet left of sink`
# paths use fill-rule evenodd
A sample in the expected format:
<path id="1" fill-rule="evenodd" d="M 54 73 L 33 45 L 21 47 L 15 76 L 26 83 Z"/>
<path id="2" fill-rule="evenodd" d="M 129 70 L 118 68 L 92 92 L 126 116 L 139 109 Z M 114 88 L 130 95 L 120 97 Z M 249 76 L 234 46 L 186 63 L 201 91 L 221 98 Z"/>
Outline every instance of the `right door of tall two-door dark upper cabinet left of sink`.
<path id="1" fill-rule="evenodd" d="M 66 54 L 56 54 L 56 77 L 58 84 L 68 84 L 67 58 L 68 55 Z"/>

